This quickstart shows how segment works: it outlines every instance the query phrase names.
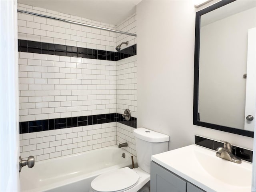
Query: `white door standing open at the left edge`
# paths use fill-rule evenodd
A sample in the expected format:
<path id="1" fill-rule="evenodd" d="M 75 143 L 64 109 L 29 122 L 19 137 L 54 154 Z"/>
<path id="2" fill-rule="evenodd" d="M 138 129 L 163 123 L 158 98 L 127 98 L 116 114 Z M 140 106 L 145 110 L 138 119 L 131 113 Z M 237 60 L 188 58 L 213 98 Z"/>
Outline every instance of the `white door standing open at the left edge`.
<path id="1" fill-rule="evenodd" d="M 0 0 L 0 191 L 20 191 L 17 0 Z"/>

